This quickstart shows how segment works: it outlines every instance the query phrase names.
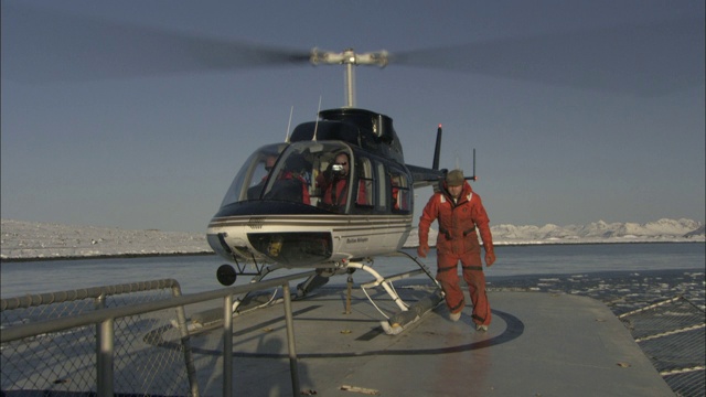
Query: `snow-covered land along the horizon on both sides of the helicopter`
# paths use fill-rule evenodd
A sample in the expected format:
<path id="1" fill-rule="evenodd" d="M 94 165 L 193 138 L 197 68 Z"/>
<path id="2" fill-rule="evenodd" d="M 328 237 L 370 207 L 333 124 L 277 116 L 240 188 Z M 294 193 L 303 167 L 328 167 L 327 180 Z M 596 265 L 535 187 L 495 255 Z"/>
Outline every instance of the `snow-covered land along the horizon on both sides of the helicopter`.
<path id="1" fill-rule="evenodd" d="M 704 243 L 704 224 L 692 219 L 659 219 L 648 224 L 591 223 L 576 226 L 492 226 L 495 245 Z M 430 230 L 430 242 L 436 230 Z M 406 247 L 418 244 L 413 229 Z M 0 259 L 50 260 L 136 256 L 207 255 L 205 233 L 62 225 L 1 219 Z"/>

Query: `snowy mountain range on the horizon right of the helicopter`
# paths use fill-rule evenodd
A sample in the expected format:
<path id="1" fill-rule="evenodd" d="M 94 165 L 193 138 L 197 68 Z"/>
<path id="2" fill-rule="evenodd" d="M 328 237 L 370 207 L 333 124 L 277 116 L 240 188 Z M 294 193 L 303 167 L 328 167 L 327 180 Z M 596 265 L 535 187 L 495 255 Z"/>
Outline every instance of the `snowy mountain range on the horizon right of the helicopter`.
<path id="1" fill-rule="evenodd" d="M 515 226 L 491 225 L 493 242 L 498 245 L 520 244 L 591 244 L 591 243 L 666 243 L 705 242 L 705 225 L 692 219 L 659 219 L 645 224 L 606 223 L 588 225 Z M 436 230 L 430 230 L 430 243 L 436 242 Z M 417 230 L 413 230 L 405 246 L 418 244 Z"/>

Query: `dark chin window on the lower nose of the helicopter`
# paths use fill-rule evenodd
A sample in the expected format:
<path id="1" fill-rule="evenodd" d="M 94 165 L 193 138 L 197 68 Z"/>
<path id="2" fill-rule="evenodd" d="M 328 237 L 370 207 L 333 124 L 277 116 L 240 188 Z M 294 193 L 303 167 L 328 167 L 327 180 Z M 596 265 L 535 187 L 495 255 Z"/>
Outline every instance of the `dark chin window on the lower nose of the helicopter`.
<path id="1" fill-rule="evenodd" d="M 331 233 L 248 233 L 253 248 L 286 267 L 311 266 L 331 258 Z"/>

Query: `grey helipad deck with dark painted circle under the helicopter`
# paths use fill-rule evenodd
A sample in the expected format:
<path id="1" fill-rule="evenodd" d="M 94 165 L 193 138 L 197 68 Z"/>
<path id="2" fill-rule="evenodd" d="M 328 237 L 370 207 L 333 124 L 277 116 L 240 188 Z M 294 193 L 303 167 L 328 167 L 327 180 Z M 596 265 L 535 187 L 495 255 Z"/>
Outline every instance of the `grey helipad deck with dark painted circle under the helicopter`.
<path id="1" fill-rule="evenodd" d="M 399 335 L 360 289 L 323 288 L 292 302 L 302 394 L 320 396 L 674 396 L 623 324 L 601 302 L 539 292 L 489 292 L 489 332 L 459 322 L 443 304 Z M 404 289 L 406 299 L 425 291 Z M 411 297 L 414 296 L 414 297 Z M 381 309 L 393 310 L 386 296 Z M 292 393 L 281 307 L 234 319 L 233 393 Z M 196 333 L 192 347 L 201 395 L 221 395 L 221 328 Z"/>

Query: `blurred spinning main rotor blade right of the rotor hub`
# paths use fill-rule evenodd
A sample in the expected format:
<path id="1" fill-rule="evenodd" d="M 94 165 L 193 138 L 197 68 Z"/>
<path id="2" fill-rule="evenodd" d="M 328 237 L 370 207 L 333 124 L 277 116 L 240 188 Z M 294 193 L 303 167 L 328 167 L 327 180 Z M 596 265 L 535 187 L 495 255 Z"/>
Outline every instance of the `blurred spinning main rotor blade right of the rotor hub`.
<path id="1" fill-rule="evenodd" d="M 391 64 L 654 96 L 704 85 L 704 20 L 409 51 Z"/>

